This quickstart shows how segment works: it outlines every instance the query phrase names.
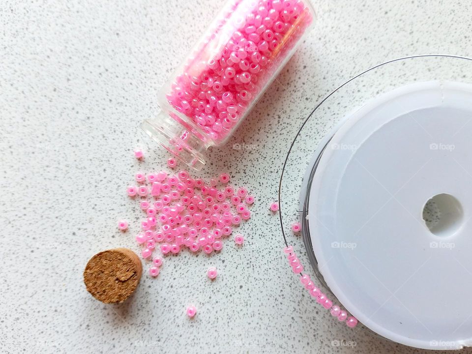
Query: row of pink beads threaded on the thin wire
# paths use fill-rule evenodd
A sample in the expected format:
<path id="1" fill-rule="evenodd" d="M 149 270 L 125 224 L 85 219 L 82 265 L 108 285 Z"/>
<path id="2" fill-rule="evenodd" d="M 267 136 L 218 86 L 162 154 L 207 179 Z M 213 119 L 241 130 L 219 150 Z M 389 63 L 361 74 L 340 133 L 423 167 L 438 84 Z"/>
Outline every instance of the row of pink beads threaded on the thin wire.
<path id="1" fill-rule="evenodd" d="M 341 308 L 337 305 L 333 305 L 333 302 L 328 299 L 327 296 L 315 286 L 315 283 L 313 283 L 308 274 L 301 274 L 301 272 L 303 271 L 303 266 L 300 264 L 300 261 L 295 255 L 294 247 L 285 247 L 284 253 L 287 255 L 289 264 L 290 266 L 292 266 L 292 270 L 294 271 L 294 273 L 300 274 L 301 284 L 305 287 L 306 290 L 310 292 L 311 296 L 316 298 L 316 302 L 322 305 L 325 309 L 329 309 L 333 317 L 336 317 L 341 322 L 346 322 L 346 325 L 348 327 L 355 327 L 357 325 L 357 319 L 355 317 L 348 316 L 348 313 L 346 311 L 341 310 Z"/>

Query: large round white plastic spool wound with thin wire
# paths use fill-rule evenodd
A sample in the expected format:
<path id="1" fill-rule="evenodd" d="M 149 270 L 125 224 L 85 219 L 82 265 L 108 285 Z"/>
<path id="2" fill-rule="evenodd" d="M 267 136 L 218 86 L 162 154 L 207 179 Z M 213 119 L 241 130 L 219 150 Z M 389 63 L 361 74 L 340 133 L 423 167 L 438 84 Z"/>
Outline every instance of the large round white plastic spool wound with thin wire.
<path id="1" fill-rule="evenodd" d="M 398 343 L 472 345 L 471 120 L 471 86 L 391 91 L 345 119 L 309 186 L 326 284 L 362 324 Z M 430 230 L 423 207 L 437 195 L 441 217 Z"/>

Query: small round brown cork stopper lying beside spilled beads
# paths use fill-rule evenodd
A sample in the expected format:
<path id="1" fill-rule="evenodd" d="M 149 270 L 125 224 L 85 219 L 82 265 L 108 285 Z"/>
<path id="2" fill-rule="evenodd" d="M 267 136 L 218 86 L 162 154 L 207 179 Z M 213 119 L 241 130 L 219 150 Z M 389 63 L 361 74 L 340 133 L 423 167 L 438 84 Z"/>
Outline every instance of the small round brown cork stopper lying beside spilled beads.
<path id="1" fill-rule="evenodd" d="M 127 248 L 97 253 L 84 270 L 87 291 L 105 303 L 123 302 L 138 286 L 143 266 L 139 257 Z"/>

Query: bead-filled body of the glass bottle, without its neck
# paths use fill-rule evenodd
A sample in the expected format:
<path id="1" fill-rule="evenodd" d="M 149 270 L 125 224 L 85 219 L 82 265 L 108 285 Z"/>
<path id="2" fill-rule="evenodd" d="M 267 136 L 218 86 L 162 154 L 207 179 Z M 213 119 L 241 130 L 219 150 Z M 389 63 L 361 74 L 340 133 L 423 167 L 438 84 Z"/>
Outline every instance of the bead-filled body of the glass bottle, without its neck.
<path id="1" fill-rule="evenodd" d="M 224 140 L 291 55 L 311 11 L 304 0 L 233 0 L 170 83 L 168 104 Z"/>

